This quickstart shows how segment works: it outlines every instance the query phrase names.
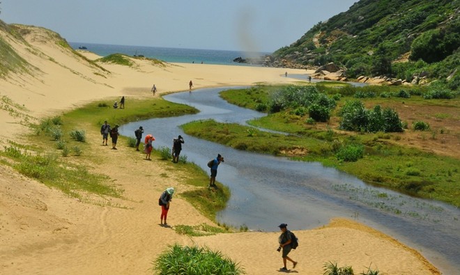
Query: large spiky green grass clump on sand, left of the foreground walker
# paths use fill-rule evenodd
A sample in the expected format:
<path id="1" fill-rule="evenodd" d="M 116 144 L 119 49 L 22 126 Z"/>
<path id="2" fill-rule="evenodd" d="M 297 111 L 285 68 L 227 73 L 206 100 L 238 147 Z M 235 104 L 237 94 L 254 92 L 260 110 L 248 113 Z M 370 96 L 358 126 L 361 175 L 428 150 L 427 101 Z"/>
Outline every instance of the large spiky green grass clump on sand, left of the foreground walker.
<path id="1" fill-rule="evenodd" d="M 153 272 L 162 275 L 238 275 L 244 269 L 220 251 L 197 246 L 169 246 L 153 262 Z"/>

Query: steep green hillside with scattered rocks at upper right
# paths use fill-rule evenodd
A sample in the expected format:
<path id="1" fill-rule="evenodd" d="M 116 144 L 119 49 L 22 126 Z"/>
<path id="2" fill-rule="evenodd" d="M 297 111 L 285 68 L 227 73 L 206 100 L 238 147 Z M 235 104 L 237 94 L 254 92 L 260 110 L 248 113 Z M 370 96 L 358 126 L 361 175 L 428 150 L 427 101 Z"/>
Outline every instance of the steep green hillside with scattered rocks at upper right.
<path id="1" fill-rule="evenodd" d="M 457 90 L 459 15 L 460 0 L 361 0 L 273 56 L 306 66 L 333 62 L 346 67 L 351 78 L 412 81 L 422 75 Z"/>

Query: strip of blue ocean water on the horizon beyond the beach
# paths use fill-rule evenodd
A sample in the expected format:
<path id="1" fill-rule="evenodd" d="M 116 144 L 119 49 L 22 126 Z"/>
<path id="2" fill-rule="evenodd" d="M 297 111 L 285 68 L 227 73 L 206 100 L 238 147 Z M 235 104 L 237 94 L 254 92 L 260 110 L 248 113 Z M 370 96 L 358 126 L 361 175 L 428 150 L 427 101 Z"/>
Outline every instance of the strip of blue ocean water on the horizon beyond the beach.
<path id="1" fill-rule="evenodd" d="M 100 56 L 109 54 L 126 54 L 128 56 L 143 55 L 148 58 L 156 58 L 171 63 L 207 63 L 220 65 L 247 65 L 244 63 L 233 62 L 237 57 L 254 57 L 270 54 L 267 52 L 248 53 L 238 51 L 221 51 L 215 49 L 180 49 L 165 47 L 146 47 L 146 46 L 126 46 L 126 45 L 107 45 L 92 44 L 84 42 L 69 42 L 73 49 L 86 47 L 89 52 Z"/>

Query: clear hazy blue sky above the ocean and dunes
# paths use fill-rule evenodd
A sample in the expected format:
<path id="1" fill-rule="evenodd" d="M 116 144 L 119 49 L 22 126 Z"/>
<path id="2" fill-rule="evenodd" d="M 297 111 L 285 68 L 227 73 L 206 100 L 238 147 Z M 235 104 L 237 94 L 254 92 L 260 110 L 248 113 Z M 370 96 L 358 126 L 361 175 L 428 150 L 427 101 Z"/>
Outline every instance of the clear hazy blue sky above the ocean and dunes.
<path id="1" fill-rule="evenodd" d="M 273 52 L 358 0 L 3 0 L 0 19 L 69 42 Z"/>

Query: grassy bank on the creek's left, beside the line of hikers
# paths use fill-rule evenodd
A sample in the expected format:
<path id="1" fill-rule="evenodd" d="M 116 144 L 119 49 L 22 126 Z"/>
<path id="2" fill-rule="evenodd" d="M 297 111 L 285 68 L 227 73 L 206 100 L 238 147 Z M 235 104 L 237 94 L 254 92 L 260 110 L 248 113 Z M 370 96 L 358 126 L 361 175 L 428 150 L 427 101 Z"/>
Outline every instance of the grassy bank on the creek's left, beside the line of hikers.
<path id="1" fill-rule="evenodd" d="M 123 198 L 123 189 L 115 185 L 109 175 L 93 172 L 92 167 L 100 163 L 100 156 L 92 153 L 94 142 L 87 136 L 100 136 L 100 125 L 104 120 L 114 126 L 148 118 L 182 116 L 197 110 L 161 98 L 129 99 L 126 109 L 120 110 L 112 108 L 115 100 L 118 99 L 91 102 L 31 125 L 28 145 L 10 141 L 0 151 L 0 162 L 75 198 L 84 198 L 87 194 Z M 119 137 L 118 147 L 121 146 L 128 146 L 128 138 Z M 152 155 L 161 159 L 160 151 L 154 151 Z M 193 163 L 172 164 L 169 159 L 164 160 L 164 165 L 171 171 L 174 169 L 175 173 L 187 175 L 183 177 L 183 183 L 192 188 L 183 192 L 181 197 L 206 217 L 215 219 L 216 212 L 224 209 L 230 196 L 229 189 L 217 182 L 217 191 L 208 190 L 208 175 L 199 166 Z"/>

